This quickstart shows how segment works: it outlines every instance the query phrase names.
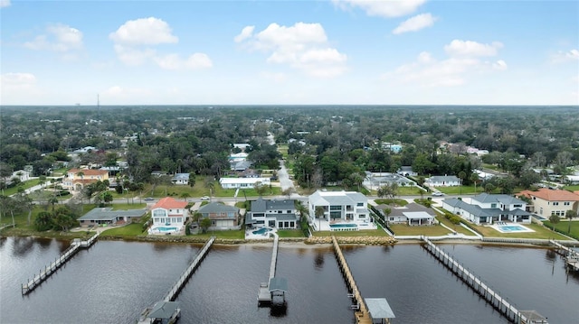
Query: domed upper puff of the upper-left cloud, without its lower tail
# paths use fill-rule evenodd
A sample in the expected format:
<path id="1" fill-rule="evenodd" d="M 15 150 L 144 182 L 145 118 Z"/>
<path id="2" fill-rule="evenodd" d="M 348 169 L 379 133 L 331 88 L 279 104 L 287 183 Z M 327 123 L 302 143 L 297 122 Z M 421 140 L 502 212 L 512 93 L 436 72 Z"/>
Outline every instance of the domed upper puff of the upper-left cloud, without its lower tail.
<path id="1" fill-rule="evenodd" d="M 129 20 L 111 32 L 109 38 L 123 45 L 157 45 L 176 43 L 179 39 L 171 33 L 168 23 L 155 17 Z"/>

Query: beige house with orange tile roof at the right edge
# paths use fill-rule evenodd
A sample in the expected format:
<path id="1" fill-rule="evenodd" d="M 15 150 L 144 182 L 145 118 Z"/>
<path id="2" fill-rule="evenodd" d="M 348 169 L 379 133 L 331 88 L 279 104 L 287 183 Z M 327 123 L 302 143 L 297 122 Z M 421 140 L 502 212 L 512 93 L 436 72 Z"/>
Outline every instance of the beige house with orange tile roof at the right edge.
<path id="1" fill-rule="evenodd" d="M 524 190 L 517 194 L 531 200 L 531 211 L 542 218 L 556 215 L 565 218 L 567 210 L 575 212 L 579 209 L 579 195 L 567 190 L 552 190 L 541 188 L 536 191 Z"/>

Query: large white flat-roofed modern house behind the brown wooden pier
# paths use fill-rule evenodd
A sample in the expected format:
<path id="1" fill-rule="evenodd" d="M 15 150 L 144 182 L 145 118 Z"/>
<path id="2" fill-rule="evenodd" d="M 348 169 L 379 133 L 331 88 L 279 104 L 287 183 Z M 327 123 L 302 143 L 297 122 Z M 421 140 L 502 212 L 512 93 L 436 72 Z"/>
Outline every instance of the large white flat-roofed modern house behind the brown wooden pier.
<path id="1" fill-rule="evenodd" d="M 324 214 L 316 218 L 316 209 Z M 308 198 L 310 223 L 317 230 L 374 229 L 368 211 L 368 199 L 356 191 L 320 191 Z M 323 222 L 323 224 L 322 224 Z"/>

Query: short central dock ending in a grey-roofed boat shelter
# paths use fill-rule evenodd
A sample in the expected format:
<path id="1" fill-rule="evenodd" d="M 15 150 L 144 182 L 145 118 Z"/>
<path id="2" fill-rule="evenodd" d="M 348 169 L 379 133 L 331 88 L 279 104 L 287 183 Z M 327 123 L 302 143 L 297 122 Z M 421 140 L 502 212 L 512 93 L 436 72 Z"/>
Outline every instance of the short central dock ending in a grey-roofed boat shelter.
<path id="1" fill-rule="evenodd" d="M 285 278 L 275 276 L 275 267 L 278 263 L 279 236 L 273 238 L 273 251 L 271 252 L 270 276 L 268 282 L 261 282 L 257 295 L 258 305 L 285 305 L 285 293 L 288 291 L 288 282 Z M 274 298 L 280 297 L 280 301 Z"/>

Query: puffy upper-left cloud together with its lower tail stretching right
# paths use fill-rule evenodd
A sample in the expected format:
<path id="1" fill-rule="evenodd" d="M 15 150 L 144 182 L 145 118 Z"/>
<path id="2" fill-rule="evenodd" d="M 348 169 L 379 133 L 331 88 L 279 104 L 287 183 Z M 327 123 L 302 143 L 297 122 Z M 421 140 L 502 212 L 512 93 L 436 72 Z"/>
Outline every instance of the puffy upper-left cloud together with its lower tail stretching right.
<path id="1" fill-rule="evenodd" d="M 161 54 L 154 45 L 177 43 L 171 27 L 165 21 L 155 18 L 140 18 L 122 24 L 116 32 L 109 33 L 115 52 L 120 61 L 137 66 L 153 61 L 161 69 L 205 69 L 213 67 L 213 62 L 204 53 L 194 53 L 186 59 L 179 53 Z"/>

